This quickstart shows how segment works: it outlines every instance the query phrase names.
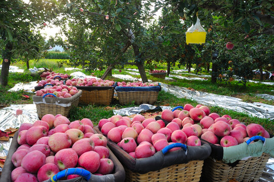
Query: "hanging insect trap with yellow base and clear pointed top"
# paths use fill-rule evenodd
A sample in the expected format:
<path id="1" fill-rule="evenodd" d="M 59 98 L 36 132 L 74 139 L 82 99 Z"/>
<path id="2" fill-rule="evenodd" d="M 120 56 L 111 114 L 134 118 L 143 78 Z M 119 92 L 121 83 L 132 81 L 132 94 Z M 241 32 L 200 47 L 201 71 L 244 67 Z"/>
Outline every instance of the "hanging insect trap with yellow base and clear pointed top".
<path id="1" fill-rule="evenodd" d="M 186 44 L 188 43 L 198 43 L 202 44 L 206 41 L 207 32 L 200 24 L 200 19 L 197 17 L 195 25 L 192 24 L 191 27 L 185 32 Z"/>

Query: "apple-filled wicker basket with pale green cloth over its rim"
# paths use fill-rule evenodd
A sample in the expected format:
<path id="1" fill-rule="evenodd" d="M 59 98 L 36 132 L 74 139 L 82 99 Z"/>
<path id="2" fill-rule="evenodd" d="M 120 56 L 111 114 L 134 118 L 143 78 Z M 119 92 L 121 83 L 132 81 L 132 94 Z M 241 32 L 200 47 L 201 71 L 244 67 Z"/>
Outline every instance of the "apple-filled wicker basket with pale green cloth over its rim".
<path id="1" fill-rule="evenodd" d="M 245 125 L 227 114 L 210 113 L 201 104 L 166 112 L 162 119 L 181 123 L 188 138 L 199 137 L 210 144 L 212 152 L 202 172 L 205 181 L 257 181 L 270 155 L 274 156 L 273 135 L 259 124 Z"/>

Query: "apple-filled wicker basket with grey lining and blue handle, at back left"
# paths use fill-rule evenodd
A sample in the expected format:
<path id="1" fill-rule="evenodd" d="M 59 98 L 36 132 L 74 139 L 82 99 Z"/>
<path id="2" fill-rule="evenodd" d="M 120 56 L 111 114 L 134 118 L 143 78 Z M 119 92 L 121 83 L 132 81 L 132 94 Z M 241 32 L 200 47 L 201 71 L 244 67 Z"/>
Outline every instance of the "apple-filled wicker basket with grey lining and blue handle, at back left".
<path id="1" fill-rule="evenodd" d="M 78 106 L 82 90 L 74 86 L 59 85 L 37 90 L 32 96 L 38 118 L 46 114 L 67 116 L 72 106 Z"/>

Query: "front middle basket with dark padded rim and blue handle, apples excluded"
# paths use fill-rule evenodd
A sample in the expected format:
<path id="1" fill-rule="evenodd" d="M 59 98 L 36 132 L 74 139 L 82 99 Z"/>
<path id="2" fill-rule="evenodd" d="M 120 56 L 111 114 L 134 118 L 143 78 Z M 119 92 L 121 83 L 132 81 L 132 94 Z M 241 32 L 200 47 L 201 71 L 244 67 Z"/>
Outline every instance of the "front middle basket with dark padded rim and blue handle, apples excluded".
<path id="1" fill-rule="evenodd" d="M 97 126 L 97 133 L 101 133 Z M 117 144 L 107 139 L 107 145 L 123 164 L 126 181 L 200 181 L 204 159 L 209 157 L 209 144 L 186 147 L 183 144 L 167 146 L 153 156 L 135 159 Z M 181 150 L 168 152 L 172 147 L 183 147 Z M 186 153 L 187 150 L 187 153 Z"/>

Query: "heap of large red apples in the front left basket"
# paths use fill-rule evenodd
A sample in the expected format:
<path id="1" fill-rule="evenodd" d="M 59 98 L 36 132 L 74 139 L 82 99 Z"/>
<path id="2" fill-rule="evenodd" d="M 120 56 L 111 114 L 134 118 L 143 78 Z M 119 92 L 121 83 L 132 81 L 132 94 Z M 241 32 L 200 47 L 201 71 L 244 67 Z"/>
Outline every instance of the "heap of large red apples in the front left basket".
<path id="1" fill-rule="evenodd" d="M 114 167 L 108 158 L 107 139 L 94 134 L 88 118 L 70 122 L 60 114 L 47 114 L 33 124 L 23 123 L 17 142 L 20 147 L 12 155 L 12 181 L 41 182 L 73 167 L 105 175 Z M 67 179 L 75 177 L 79 175 L 68 175 Z"/>

